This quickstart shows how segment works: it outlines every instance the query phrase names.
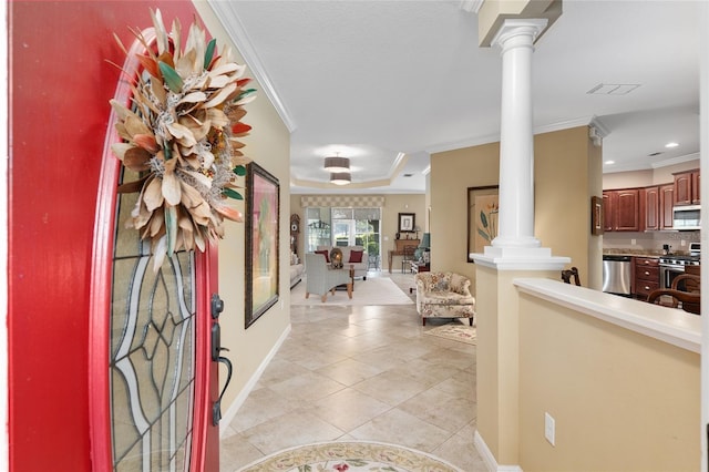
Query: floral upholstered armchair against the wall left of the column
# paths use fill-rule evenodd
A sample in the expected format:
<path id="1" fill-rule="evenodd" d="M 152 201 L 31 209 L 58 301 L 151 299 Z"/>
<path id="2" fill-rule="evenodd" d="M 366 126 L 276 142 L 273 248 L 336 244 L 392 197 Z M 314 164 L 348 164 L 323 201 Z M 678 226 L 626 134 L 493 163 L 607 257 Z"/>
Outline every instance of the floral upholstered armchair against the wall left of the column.
<path id="1" fill-rule="evenodd" d="M 422 325 L 427 318 L 467 318 L 473 326 L 475 297 L 470 293 L 470 279 L 451 271 L 419 273 L 417 284 L 417 311 Z"/>

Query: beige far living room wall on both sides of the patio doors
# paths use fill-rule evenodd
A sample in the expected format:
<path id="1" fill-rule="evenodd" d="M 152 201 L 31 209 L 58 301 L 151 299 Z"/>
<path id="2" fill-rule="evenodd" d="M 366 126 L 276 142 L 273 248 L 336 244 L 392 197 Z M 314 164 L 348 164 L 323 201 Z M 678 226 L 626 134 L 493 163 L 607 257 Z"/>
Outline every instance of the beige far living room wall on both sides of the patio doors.
<path id="1" fill-rule="evenodd" d="M 300 220 L 305 222 L 304 209 L 300 204 L 300 198 L 305 195 L 291 195 L 290 196 L 290 213 L 300 216 Z M 394 248 L 394 239 L 397 230 L 399 228 L 399 213 L 413 213 L 415 214 L 415 225 L 421 228 L 419 232 L 419 238 L 423 234 L 427 222 L 427 195 L 425 194 L 391 194 L 384 195 L 384 206 L 382 207 L 382 242 L 381 242 L 381 267 L 382 270 L 387 270 L 387 254 L 388 250 Z M 302 225 L 301 225 L 302 226 Z M 414 237 L 412 235 L 411 237 Z M 302 258 L 305 248 L 305 233 L 300 232 L 298 238 L 298 254 Z M 433 253 L 431 253 L 433 254 Z M 432 256 L 433 257 L 433 256 Z M 392 264 L 394 269 L 401 270 L 401 259 L 397 256 Z"/>

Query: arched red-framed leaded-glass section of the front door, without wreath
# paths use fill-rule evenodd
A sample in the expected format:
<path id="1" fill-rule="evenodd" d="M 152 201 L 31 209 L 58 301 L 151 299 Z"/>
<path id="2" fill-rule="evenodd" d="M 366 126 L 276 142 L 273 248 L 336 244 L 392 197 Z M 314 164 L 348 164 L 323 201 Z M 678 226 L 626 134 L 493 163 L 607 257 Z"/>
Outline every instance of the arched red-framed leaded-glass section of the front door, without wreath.
<path id="1" fill-rule="evenodd" d="M 145 38 L 154 37 L 151 31 Z M 124 70 L 136 70 L 136 41 Z M 130 102 L 129 84 L 115 98 Z M 217 246 L 179 250 L 154 266 L 150 240 L 125 225 L 140 178 L 110 150 L 109 122 L 94 238 L 89 377 L 97 470 L 218 471 Z M 214 348 L 213 348 L 214 347 Z"/>

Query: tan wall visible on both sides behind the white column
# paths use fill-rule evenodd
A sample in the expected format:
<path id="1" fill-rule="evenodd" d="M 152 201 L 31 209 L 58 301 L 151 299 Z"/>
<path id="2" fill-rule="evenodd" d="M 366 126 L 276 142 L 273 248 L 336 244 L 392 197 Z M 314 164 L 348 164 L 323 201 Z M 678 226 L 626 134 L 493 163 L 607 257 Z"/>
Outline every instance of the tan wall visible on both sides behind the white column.
<path id="1" fill-rule="evenodd" d="M 602 195 L 602 152 L 588 138 L 588 127 L 534 137 L 535 236 L 555 256 L 572 258 L 585 286 L 602 286 L 599 236 L 590 234 L 590 196 Z M 431 155 L 431 258 L 433 269 L 464 274 L 466 261 L 467 187 L 496 185 L 500 144 L 491 143 Z"/>

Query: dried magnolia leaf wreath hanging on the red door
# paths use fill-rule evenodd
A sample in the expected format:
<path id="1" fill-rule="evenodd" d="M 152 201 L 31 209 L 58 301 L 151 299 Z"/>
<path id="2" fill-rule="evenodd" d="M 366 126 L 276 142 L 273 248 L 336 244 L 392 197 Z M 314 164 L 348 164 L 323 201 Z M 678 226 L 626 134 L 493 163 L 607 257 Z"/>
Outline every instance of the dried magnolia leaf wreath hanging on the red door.
<path id="1" fill-rule="evenodd" d="M 179 21 L 168 34 L 160 10 L 151 17 L 155 45 L 131 30 L 145 48 L 136 54 L 144 71 L 132 85 L 131 109 L 111 100 L 123 138 L 112 151 L 142 175 L 119 192 L 140 192 L 126 226 L 151 239 L 157 269 L 175 250 L 204 252 L 207 238 L 223 237 L 224 218 L 243 220 L 226 199 L 243 199 L 236 177 L 250 160 L 237 138 L 251 129 L 240 120 L 243 105 L 256 95 L 244 88 L 250 81 L 242 79 L 246 66 L 232 62 L 228 47 L 218 55 L 216 40 L 206 42 L 204 29 L 193 23 L 181 51 Z"/>

